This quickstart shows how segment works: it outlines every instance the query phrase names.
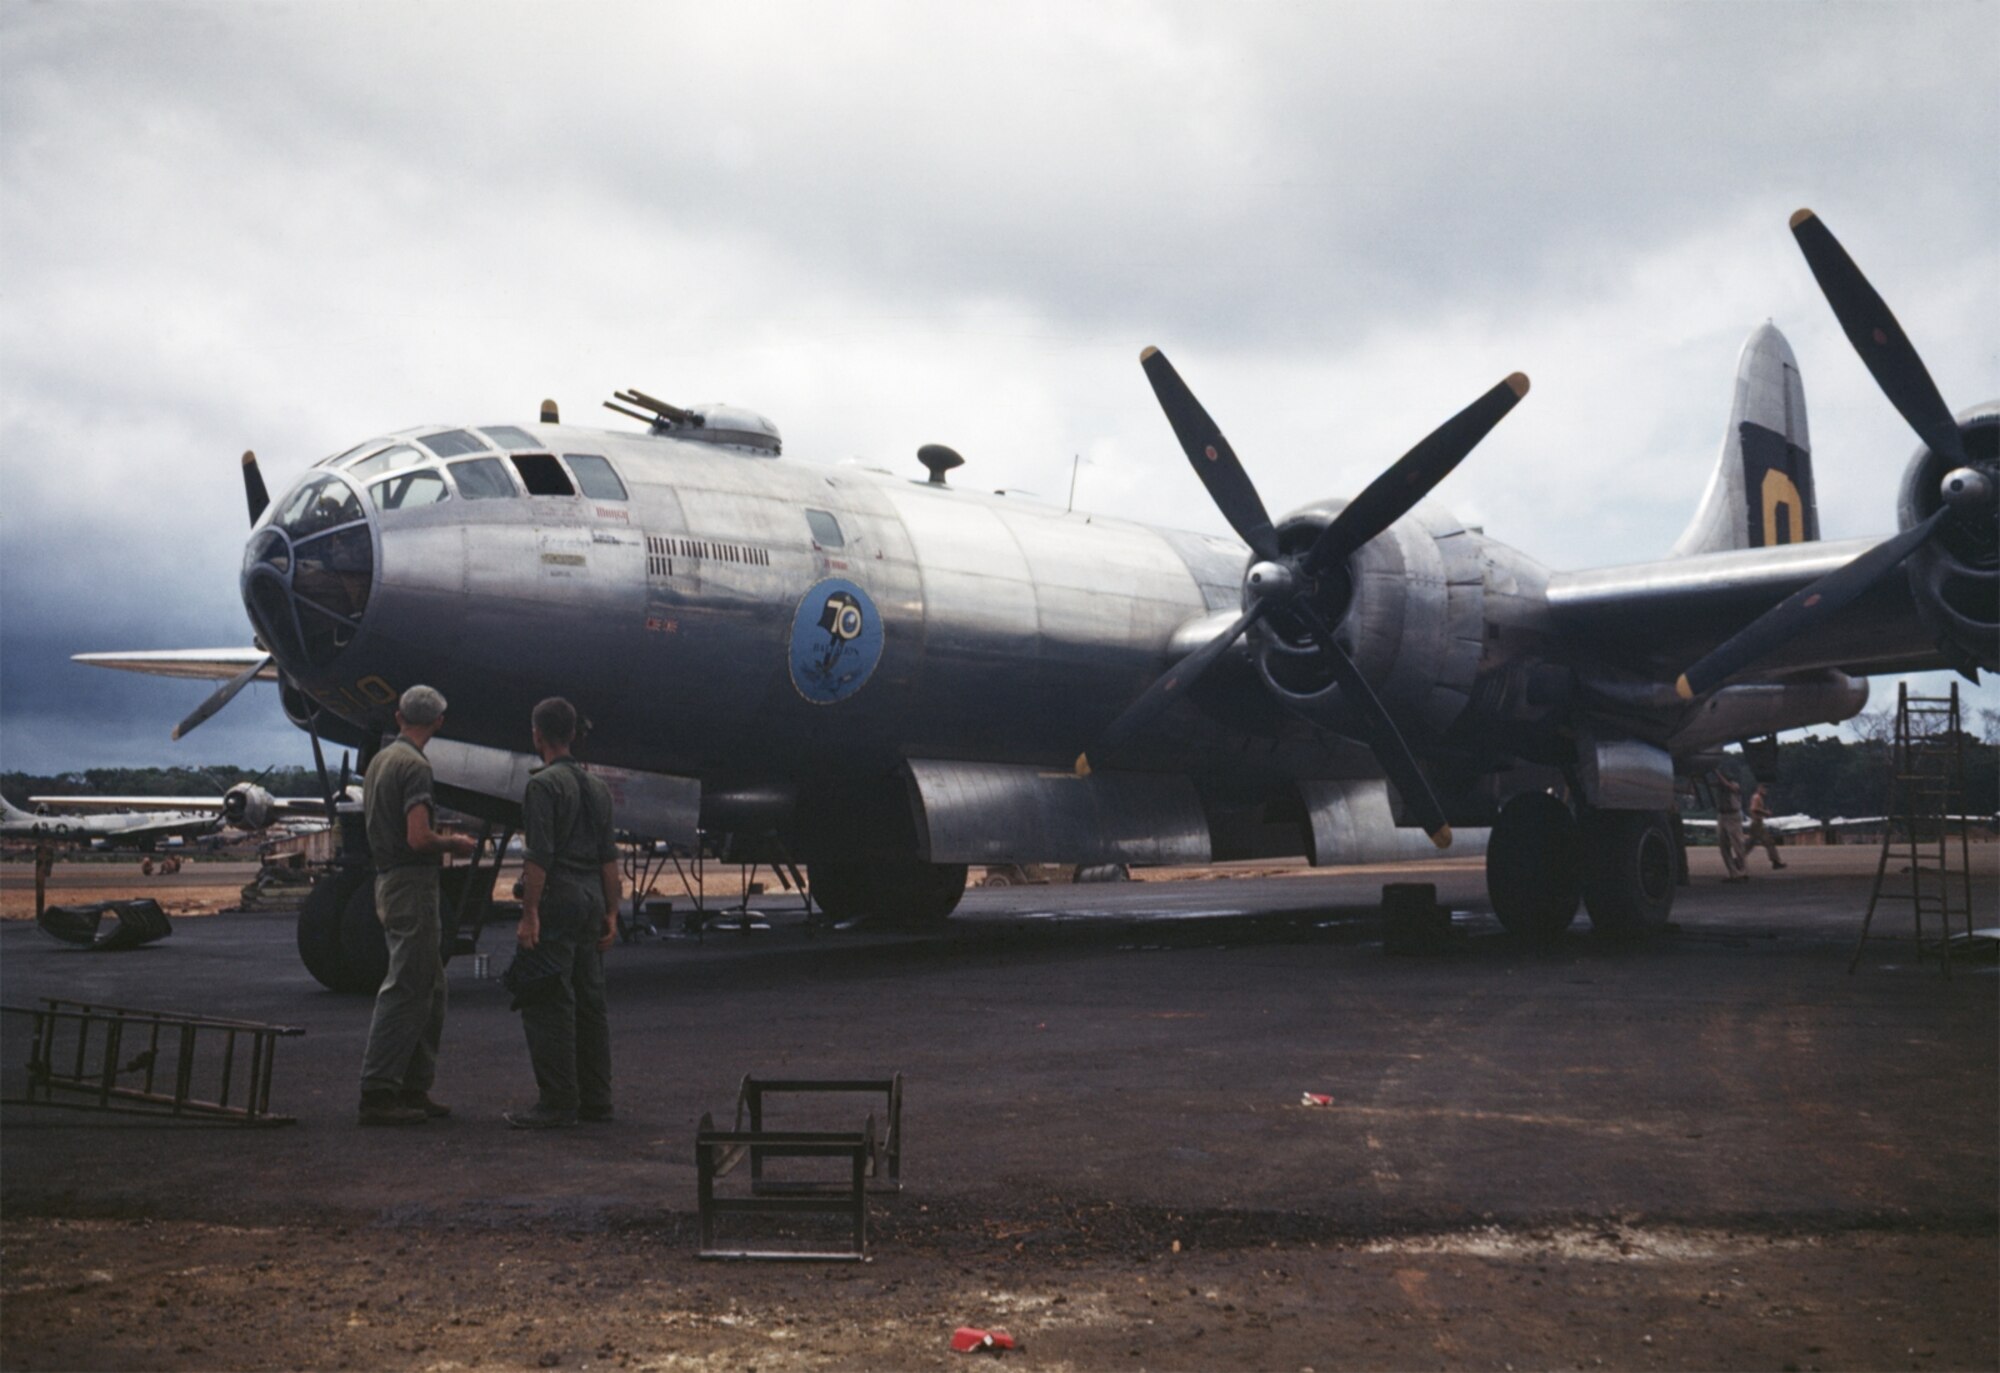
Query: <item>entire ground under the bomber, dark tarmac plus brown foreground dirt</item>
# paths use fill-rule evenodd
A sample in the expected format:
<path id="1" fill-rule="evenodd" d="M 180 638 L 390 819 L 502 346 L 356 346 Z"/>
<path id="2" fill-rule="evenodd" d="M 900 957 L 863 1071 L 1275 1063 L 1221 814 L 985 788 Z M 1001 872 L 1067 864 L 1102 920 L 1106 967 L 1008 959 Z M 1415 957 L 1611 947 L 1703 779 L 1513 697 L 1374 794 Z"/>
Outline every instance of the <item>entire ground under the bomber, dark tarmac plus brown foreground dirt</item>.
<path id="1" fill-rule="evenodd" d="M 458 963 L 458 1113 L 362 1131 L 366 999 L 312 985 L 290 917 L 122 957 L 10 923 L 8 1005 L 308 1033 L 292 1127 L 8 1109 L 0 1369 L 928 1369 L 970 1363 L 960 1325 L 1034 1369 L 1994 1369 L 2000 975 L 1894 929 L 1848 975 L 1870 875 L 1698 867 L 1652 949 L 1524 953 L 1476 913 L 1388 959 L 1366 903 L 1404 873 L 620 947 L 620 1115 L 528 1137 L 518 1023 Z M 1480 897 L 1476 863 L 1426 881 Z M 912 1083 L 872 1259 L 698 1259 L 696 1117 L 746 1069 L 870 1065 Z"/>

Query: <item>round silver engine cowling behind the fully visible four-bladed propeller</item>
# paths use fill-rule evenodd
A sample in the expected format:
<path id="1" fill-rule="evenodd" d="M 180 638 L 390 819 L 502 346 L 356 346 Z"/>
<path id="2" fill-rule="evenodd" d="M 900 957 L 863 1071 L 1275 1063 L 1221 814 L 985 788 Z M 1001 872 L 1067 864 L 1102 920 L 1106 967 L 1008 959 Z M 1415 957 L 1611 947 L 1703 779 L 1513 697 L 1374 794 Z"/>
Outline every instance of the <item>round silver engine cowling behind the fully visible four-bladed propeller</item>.
<path id="1" fill-rule="evenodd" d="M 1278 544 L 1310 546 L 1344 504 L 1294 510 L 1278 524 Z M 1464 713 L 1486 614 L 1480 538 L 1456 518 L 1418 506 L 1304 596 L 1400 725 L 1436 737 Z M 1324 729 L 1354 737 L 1360 719 L 1312 638 L 1280 616 L 1254 634 L 1266 686 Z"/>

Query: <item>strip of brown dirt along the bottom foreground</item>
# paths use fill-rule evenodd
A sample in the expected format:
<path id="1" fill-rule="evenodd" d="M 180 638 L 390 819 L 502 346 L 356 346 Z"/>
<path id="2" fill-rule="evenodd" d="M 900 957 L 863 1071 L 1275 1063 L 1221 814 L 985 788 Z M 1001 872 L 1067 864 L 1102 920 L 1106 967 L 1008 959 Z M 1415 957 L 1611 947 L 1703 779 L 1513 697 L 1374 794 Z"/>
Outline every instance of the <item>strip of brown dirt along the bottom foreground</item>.
<path id="1" fill-rule="evenodd" d="M 1078 1217 L 1068 1217 L 1076 1221 Z M 1114 1219 L 1114 1217 L 1100 1217 Z M 1088 1223 L 1086 1223 L 1088 1225 Z M 902 1227 L 868 1265 L 666 1231 L 14 1221 L 8 1369 L 1990 1369 L 1992 1235 L 1528 1233 L 1230 1243 Z M 926 1229 L 930 1233 L 926 1233 Z M 1174 1253 L 1166 1231 L 1186 1235 Z"/>

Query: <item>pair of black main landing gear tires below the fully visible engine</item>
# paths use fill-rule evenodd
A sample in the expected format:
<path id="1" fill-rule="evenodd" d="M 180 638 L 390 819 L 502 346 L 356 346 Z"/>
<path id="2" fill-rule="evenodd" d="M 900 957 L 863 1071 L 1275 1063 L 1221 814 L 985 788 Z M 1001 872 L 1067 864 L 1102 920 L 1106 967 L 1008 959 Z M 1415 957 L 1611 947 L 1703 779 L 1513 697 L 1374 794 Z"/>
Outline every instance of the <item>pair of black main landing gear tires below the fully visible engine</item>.
<path id="1" fill-rule="evenodd" d="M 1642 937 L 1674 909 L 1674 837 L 1664 811 L 1592 811 L 1582 817 L 1548 793 L 1500 807 L 1486 841 L 1494 915 L 1524 943 L 1570 929 L 1576 907 L 1600 935 Z"/>

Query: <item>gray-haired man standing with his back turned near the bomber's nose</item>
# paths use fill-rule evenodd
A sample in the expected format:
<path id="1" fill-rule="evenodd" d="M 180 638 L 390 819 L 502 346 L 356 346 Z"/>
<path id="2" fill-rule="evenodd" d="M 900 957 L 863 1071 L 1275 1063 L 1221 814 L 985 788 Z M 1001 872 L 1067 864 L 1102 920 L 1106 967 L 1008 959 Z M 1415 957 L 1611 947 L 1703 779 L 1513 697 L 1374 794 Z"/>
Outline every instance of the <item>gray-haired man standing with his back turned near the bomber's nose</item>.
<path id="1" fill-rule="evenodd" d="M 376 991 L 362 1055 L 362 1125 L 422 1125 L 450 1115 L 430 1099 L 444 1035 L 438 869 L 446 853 L 470 855 L 472 839 L 432 829 L 436 803 L 424 745 L 442 725 L 442 695 L 432 686 L 402 693 L 402 733 L 368 763 L 362 781 L 376 919 L 388 937 L 388 977 Z"/>

